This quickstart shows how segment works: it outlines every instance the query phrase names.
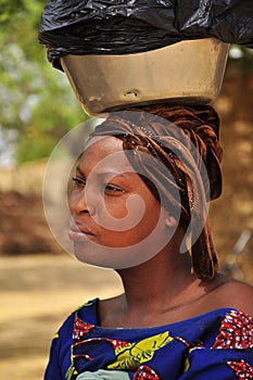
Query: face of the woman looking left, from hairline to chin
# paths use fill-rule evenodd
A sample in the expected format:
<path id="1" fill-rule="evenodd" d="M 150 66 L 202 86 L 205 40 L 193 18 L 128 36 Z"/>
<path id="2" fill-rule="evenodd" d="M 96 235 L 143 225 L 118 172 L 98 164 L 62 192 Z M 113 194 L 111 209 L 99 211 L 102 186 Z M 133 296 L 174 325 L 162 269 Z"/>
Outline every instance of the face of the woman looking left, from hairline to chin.
<path id="1" fill-rule="evenodd" d="M 166 235 L 166 212 L 128 162 L 122 140 L 92 138 L 74 182 L 69 238 L 80 261 L 114 267 L 106 255 L 117 252 L 118 257 L 121 250 L 125 254 L 132 246 L 137 254 L 147 244 L 148 251 L 152 244 L 153 251 L 157 249 L 161 236 Z M 161 217 L 163 223 L 150 240 Z"/>

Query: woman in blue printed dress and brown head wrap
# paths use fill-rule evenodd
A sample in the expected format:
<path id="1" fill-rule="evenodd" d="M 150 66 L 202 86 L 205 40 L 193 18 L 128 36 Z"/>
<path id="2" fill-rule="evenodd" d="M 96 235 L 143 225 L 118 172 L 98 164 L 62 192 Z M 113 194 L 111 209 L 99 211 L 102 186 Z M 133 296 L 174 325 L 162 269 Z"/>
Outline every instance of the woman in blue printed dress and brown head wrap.
<path id="1" fill-rule="evenodd" d="M 250 379 L 253 290 L 217 273 L 206 204 L 222 191 L 210 106 L 112 113 L 76 167 L 69 237 L 125 292 L 74 312 L 46 380 Z"/>

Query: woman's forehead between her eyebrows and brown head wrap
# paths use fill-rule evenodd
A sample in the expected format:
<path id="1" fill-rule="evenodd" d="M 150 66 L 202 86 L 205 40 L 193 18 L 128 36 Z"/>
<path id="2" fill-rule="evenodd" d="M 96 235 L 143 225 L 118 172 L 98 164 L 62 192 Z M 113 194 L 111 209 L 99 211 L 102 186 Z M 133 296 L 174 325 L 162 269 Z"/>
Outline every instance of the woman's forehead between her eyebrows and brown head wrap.
<path id="1" fill-rule="evenodd" d="M 132 166 L 123 150 L 123 141 L 116 137 L 92 137 L 81 155 L 79 166 L 87 170 L 132 172 Z"/>

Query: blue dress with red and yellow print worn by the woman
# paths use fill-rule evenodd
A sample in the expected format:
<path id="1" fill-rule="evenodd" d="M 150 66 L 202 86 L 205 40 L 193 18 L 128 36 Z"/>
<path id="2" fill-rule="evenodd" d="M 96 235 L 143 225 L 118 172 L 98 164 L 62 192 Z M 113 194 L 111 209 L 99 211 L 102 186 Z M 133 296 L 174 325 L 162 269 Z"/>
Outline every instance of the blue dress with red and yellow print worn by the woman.
<path id="1" fill-rule="evenodd" d="M 152 328 L 102 328 L 98 302 L 55 334 L 45 380 L 253 379 L 253 319 L 219 308 Z"/>

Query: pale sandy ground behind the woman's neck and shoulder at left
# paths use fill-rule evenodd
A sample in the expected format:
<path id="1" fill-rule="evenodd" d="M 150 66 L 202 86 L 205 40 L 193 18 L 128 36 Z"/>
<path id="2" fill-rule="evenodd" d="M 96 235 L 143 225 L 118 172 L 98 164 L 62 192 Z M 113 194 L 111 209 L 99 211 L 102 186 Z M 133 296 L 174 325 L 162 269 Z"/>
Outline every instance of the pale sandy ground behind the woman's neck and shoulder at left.
<path id="1" fill-rule="evenodd" d="M 1 257 L 0 378 L 42 379 L 51 338 L 63 318 L 88 300 L 119 292 L 113 271 L 68 255 Z"/>

